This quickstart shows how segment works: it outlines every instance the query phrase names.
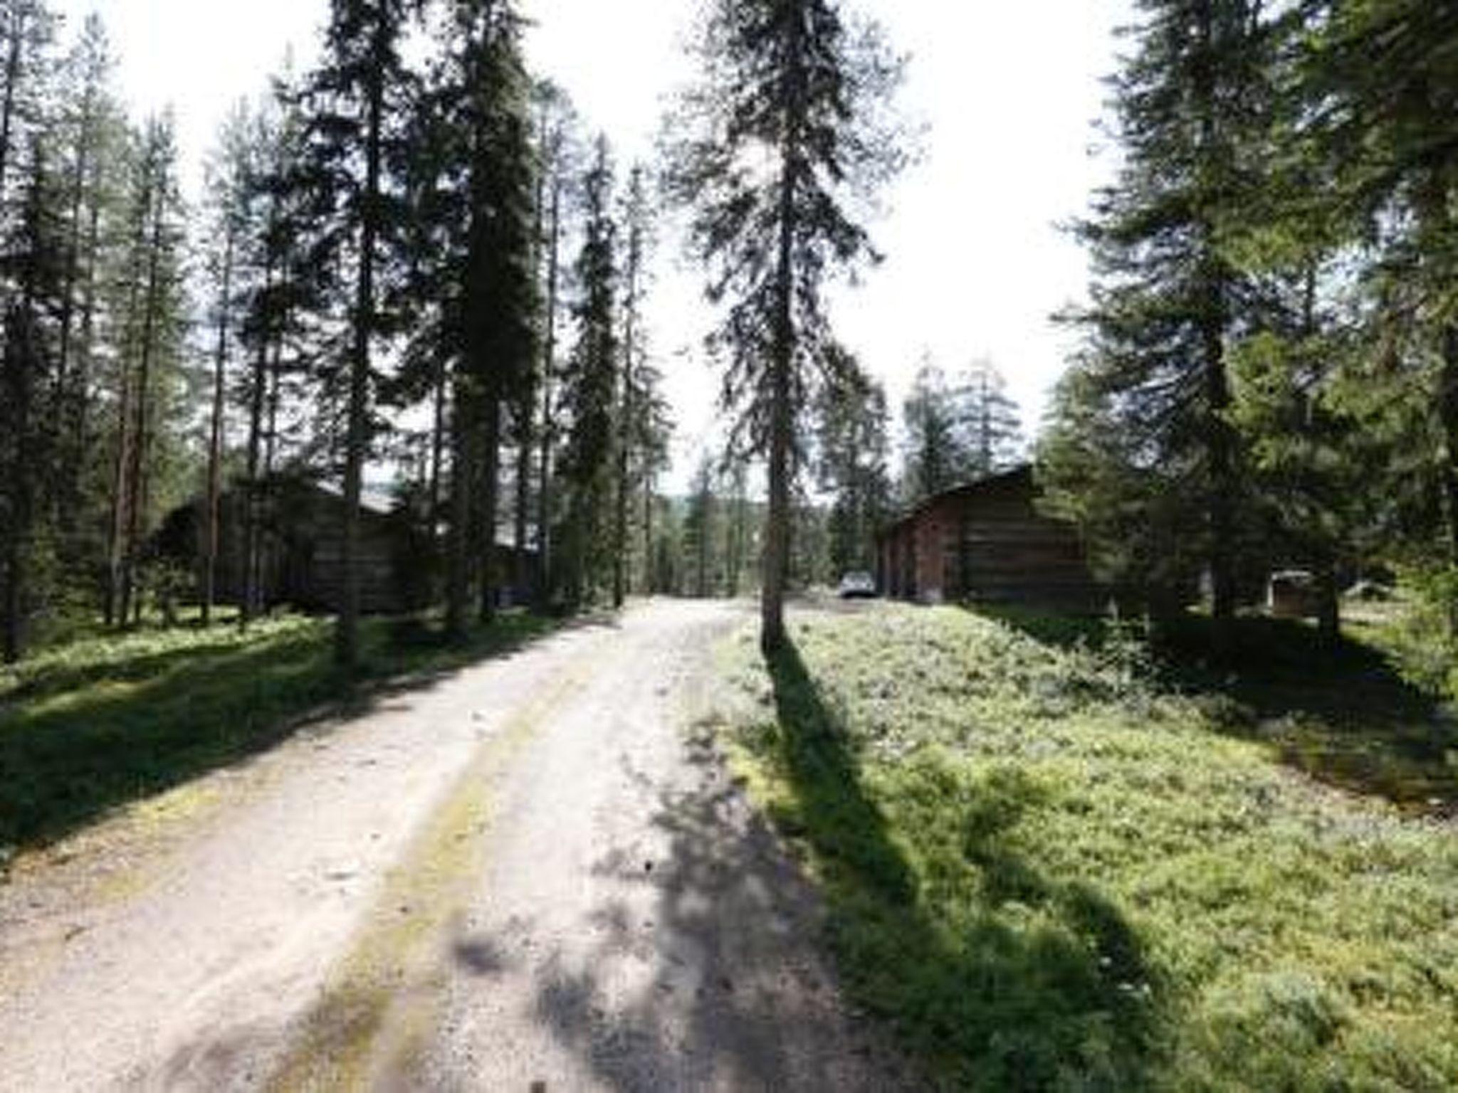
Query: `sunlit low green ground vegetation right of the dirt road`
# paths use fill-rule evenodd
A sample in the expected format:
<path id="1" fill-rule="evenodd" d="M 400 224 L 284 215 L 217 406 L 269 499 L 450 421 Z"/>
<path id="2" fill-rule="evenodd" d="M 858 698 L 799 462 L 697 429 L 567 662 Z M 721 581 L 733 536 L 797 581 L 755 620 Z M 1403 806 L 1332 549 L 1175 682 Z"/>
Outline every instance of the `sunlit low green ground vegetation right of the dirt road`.
<path id="1" fill-rule="evenodd" d="M 1031 630 L 888 605 L 725 653 L 854 998 L 954 1087 L 1458 1087 L 1458 831 L 1232 733 L 1279 672 L 1180 689 Z"/>

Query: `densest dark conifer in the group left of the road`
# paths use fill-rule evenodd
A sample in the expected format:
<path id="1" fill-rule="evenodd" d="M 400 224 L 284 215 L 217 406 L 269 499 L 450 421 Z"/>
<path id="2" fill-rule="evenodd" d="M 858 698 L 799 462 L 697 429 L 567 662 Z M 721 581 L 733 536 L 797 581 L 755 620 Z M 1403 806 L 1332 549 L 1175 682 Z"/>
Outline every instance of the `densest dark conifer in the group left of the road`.
<path id="1" fill-rule="evenodd" d="M 437 383 L 451 376 L 451 529 L 446 627 L 461 635 L 472 587 L 490 618 L 504 574 L 496 571 L 503 418 L 515 417 L 521 450 L 535 408 L 537 175 L 531 90 L 521 57 L 521 17 L 506 3 L 461 3 L 451 12 L 451 48 L 430 93 L 430 203 L 439 251 L 418 256 L 440 297 Z M 442 389 L 443 393 L 443 389 Z M 439 401 L 437 401 L 437 405 Z M 519 481 L 519 485 L 522 482 Z M 525 533 L 518 495 L 518 532 Z"/>

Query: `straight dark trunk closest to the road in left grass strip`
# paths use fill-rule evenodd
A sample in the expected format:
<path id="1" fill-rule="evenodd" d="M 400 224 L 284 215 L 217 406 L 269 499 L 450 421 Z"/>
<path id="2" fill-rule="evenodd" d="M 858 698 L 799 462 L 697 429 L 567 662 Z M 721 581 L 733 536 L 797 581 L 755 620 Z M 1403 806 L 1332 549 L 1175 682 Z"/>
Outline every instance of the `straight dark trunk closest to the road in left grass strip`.
<path id="1" fill-rule="evenodd" d="M 375 29 L 376 55 L 383 54 L 383 28 Z M 343 666 L 359 665 L 359 526 L 364 490 L 364 447 L 369 443 L 369 350 L 375 329 L 375 239 L 379 217 L 379 176 L 385 114 L 383 76 L 376 71 L 369 87 L 364 133 L 364 194 L 360 222 L 359 278 L 354 289 L 354 347 L 350 361 L 348 424 L 344 439 L 344 526 L 340 564 L 344 568 L 334 654 Z"/>

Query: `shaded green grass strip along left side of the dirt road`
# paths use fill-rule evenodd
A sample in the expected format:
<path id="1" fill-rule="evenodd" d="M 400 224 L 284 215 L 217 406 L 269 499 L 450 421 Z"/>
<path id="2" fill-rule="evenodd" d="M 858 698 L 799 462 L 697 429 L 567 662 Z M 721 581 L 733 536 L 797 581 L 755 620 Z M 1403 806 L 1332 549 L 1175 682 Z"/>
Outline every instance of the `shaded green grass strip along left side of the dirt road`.
<path id="1" fill-rule="evenodd" d="M 510 650 L 554 624 L 506 615 L 461 644 L 426 622 L 369 619 L 362 666 L 332 662 L 328 619 L 149 628 L 52 647 L 0 669 L 0 848 L 54 841 L 106 810 L 363 710 L 388 683 Z"/>

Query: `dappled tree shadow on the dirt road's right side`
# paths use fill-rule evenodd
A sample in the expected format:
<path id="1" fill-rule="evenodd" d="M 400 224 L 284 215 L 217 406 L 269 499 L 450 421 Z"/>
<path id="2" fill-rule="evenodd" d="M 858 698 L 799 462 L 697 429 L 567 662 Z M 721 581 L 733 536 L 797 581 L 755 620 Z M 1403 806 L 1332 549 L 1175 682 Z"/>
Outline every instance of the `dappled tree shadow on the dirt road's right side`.
<path id="1" fill-rule="evenodd" d="M 617 895 L 586 959 L 542 956 L 537 1019 L 615 1090 L 926 1089 L 844 1008 L 819 901 L 709 737 L 688 746 L 693 786 L 652 787 L 666 855 L 595 864 Z"/>

